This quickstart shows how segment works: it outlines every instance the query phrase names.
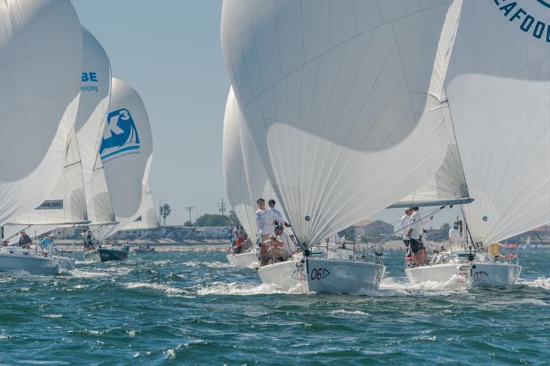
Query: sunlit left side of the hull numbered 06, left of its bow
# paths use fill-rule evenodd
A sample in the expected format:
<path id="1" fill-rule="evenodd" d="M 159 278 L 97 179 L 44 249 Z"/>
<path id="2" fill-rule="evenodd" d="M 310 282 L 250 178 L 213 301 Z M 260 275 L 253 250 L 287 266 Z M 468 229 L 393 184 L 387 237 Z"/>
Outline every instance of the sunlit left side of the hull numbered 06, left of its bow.
<path id="1" fill-rule="evenodd" d="M 288 260 L 262 266 L 258 270 L 263 284 L 276 284 L 284 290 L 296 290 L 307 293 L 305 263 L 301 260 Z"/>

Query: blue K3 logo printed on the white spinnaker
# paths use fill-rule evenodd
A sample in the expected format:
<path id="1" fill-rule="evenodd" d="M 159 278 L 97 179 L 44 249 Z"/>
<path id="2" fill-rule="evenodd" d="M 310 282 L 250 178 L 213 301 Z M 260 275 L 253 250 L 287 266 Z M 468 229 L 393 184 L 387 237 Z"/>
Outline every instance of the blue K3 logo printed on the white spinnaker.
<path id="1" fill-rule="evenodd" d="M 130 111 L 121 108 L 107 115 L 107 126 L 99 153 L 101 159 L 107 159 L 119 152 L 140 148 L 140 137 Z"/>

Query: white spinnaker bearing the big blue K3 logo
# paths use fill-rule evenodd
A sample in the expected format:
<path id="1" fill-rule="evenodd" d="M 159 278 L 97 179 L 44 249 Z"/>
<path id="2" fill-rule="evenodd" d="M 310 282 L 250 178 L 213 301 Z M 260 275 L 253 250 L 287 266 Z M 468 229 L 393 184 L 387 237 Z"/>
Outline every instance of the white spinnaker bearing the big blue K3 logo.
<path id="1" fill-rule="evenodd" d="M 113 235 L 139 216 L 152 153 L 151 124 L 142 98 L 129 84 L 113 78 L 100 157 L 118 224 L 94 229 L 98 240 Z"/>

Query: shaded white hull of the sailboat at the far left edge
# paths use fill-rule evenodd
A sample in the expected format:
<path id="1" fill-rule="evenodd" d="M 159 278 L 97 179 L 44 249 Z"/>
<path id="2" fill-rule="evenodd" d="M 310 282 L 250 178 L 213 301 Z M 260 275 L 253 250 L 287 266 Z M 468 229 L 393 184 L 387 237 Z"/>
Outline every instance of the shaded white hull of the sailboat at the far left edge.
<path id="1" fill-rule="evenodd" d="M 0 272 L 23 272 L 30 275 L 57 275 L 60 263 L 54 258 L 41 257 L 32 251 L 0 251 Z"/>

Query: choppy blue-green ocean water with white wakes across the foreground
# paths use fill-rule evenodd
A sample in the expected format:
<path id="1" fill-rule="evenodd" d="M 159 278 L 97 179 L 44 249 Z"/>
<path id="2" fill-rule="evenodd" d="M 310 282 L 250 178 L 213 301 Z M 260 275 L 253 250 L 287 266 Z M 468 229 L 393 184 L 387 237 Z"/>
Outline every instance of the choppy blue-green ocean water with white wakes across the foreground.
<path id="1" fill-rule="evenodd" d="M 520 254 L 518 286 L 463 290 L 410 286 L 387 253 L 370 296 L 285 293 L 221 251 L 2 273 L 0 364 L 548 365 L 550 252 Z"/>

